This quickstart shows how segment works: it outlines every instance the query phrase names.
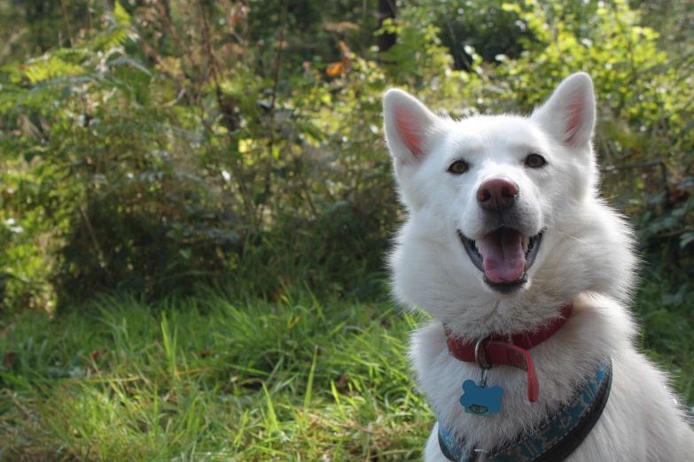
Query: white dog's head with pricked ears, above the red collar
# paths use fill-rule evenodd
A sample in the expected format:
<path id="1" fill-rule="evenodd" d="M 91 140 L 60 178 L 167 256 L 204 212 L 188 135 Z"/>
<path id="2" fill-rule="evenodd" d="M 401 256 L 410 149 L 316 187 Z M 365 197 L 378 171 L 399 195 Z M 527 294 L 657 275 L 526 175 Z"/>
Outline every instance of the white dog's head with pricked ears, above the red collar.
<path id="1" fill-rule="evenodd" d="M 532 327 L 582 291 L 624 296 L 631 240 L 597 198 L 595 120 L 586 73 L 529 118 L 440 118 L 387 91 L 386 141 L 409 212 L 391 258 L 395 295 L 492 330 Z"/>

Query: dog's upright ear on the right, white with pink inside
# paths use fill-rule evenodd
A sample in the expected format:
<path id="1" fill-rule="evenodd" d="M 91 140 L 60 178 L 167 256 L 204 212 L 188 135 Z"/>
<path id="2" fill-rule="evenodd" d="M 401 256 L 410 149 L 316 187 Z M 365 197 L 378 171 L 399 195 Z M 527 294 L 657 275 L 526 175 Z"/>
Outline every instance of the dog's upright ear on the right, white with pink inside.
<path id="1" fill-rule="evenodd" d="M 596 123 L 596 99 L 589 74 L 567 77 L 530 119 L 567 146 L 579 148 L 589 144 Z"/>

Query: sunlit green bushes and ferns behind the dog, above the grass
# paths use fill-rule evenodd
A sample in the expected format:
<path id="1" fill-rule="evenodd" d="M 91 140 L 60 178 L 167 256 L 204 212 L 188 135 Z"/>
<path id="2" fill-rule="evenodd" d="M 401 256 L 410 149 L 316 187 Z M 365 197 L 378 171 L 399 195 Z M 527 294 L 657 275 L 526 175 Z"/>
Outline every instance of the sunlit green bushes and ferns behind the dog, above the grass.
<path id="1" fill-rule="evenodd" d="M 287 281 L 366 296 L 401 213 L 382 91 L 409 89 L 453 117 L 528 112 L 581 69 L 599 98 L 605 196 L 656 261 L 691 261 L 683 0 L 427 0 L 402 4 L 381 31 L 355 0 L 91 4 L 0 10 L 19 24 L 0 53 L 5 309 L 224 279 L 251 280 L 237 296 Z M 22 24 L 68 40 L 12 39 Z M 398 42 L 377 54 L 384 31 Z M 658 167 L 613 168 L 654 160 L 665 184 Z"/>

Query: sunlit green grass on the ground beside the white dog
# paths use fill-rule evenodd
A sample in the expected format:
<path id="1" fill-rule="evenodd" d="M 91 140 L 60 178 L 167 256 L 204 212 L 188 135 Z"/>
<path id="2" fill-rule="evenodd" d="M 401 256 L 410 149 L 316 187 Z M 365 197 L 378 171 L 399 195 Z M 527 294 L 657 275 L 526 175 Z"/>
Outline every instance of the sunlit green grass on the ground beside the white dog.
<path id="1" fill-rule="evenodd" d="M 694 302 L 677 290 L 649 281 L 636 312 L 691 405 Z M 417 460 L 434 418 L 404 356 L 416 320 L 295 293 L 5 317 L 0 460 Z"/>

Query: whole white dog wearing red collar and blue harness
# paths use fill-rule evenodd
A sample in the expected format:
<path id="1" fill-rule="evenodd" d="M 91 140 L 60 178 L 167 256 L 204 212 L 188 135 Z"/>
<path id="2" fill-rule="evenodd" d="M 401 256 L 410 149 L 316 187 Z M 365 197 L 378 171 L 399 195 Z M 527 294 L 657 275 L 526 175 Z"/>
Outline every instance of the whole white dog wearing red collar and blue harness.
<path id="1" fill-rule="evenodd" d="M 391 89 L 384 119 L 409 212 L 394 294 L 433 317 L 410 350 L 438 415 L 425 461 L 694 461 L 634 346 L 633 237 L 598 196 L 589 75 L 529 118 L 441 118 Z"/>

